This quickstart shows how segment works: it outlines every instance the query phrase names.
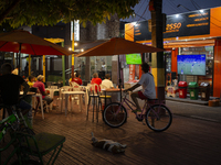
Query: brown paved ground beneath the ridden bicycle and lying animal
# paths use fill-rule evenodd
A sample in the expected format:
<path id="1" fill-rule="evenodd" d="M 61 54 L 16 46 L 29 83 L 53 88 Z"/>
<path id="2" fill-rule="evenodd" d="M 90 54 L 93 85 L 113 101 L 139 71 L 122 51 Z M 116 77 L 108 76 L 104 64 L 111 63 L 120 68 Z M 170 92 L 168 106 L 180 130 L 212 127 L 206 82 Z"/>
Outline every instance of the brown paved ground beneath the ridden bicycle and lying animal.
<path id="1" fill-rule="evenodd" d="M 191 131 L 186 127 L 186 121 L 201 131 Z M 67 117 L 64 112 L 53 110 L 45 113 L 44 120 L 41 113 L 33 119 L 35 133 L 49 132 L 66 138 L 63 150 L 55 162 L 56 165 L 221 164 L 221 138 L 215 132 L 215 129 L 220 130 L 221 125 L 215 128 L 213 125 L 215 123 L 209 124 L 214 129 L 203 130 L 202 127 L 196 125 L 192 119 L 185 119 L 183 122 L 182 117 L 173 117 L 169 130 L 156 133 L 138 122 L 134 114 L 129 114 L 123 127 L 113 129 L 103 122 L 101 113 L 98 122 L 92 122 L 92 112 L 87 121 L 85 110 L 80 112 L 78 107 L 74 107 L 74 111 Z M 94 147 L 91 144 L 91 132 L 94 132 L 97 139 L 109 139 L 127 144 L 126 152 L 114 155 Z M 208 142 L 204 134 L 209 135 L 212 141 Z M 44 162 L 48 158 L 49 156 L 44 157 Z"/>

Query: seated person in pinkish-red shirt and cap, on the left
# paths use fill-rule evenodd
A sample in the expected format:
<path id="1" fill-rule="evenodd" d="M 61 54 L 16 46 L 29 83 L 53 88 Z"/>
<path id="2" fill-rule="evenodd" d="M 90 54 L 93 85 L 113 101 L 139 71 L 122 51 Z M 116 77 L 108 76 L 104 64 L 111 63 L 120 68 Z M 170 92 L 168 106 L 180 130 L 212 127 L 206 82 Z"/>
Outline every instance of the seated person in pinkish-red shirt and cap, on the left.
<path id="1" fill-rule="evenodd" d="M 53 99 L 50 96 L 48 96 L 48 94 L 45 91 L 44 84 L 42 82 L 43 78 L 44 78 L 43 75 L 39 75 L 36 77 L 36 81 L 34 82 L 34 85 L 32 87 L 38 88 L 40 94 L 42 95 L 42 99 L 45 100 L 48 105 L 50 105 L 53 101 Z"/>

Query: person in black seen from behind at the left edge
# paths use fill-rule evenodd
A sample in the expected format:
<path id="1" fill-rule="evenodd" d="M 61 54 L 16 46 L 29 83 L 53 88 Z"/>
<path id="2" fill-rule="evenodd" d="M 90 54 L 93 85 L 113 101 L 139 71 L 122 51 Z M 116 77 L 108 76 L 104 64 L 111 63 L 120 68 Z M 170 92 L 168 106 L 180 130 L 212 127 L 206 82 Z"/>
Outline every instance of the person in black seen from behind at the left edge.
<path id="1" fill-rule="evenodd" d="M 22 110 L 29 110 L 28 118 L 32 118 L 31 105 L 25 102 L 24 99 L 29 91 L 29 85 L 19 75 L 12 74 L 12 66 L 9 63 L 4 63 L 1 66 L 2 76 L 0 76 L 0 91 L 1 99 L 6 106 L 15 106 Z M 23 95 L 20 98 L 20 88 L 23 86 Z M 9 111 L 9 114 L 11 112 Z"/>

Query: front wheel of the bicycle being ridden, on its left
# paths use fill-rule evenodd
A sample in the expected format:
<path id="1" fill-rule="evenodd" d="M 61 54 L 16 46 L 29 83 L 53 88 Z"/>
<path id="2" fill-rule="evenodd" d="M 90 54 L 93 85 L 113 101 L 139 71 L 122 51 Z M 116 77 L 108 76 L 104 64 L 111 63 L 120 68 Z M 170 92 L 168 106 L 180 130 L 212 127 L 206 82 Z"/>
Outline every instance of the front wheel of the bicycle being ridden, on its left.
<path id="1" fill-rule="evenodd" d="M 119 111 L 118 108 L 120 107 L 120 103 L 113 102 L 106 106 L 103 112 L 103 119 L 104 122 L 112 127 L 112 128 L 118 128 L 122 127 L 125 121 L 127 120 L 127 111 L 124 106 L 120 107 Z M 116 113 L 118 111 L 118 113 Z"/>

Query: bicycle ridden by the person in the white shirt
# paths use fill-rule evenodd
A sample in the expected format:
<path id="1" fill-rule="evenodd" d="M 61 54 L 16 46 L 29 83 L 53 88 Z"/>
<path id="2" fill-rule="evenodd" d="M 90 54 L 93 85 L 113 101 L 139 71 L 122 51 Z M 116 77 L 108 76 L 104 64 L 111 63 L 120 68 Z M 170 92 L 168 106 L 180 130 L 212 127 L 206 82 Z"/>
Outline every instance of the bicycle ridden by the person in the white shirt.
<path id="1" fill-rule="evenodd" d="M 134 111 L 133 107 L 136 107 L 136 105 L 126 98 L 128 92 L 125 92 L 122 102 L 112 102 L 105 107 L 103 120 L 107 125 L 118 128 L 126 122 L 127 109 L 124 105 Z M 154 103 L 150 105 L 150 101 Z M 146 100 L 141 109 L 141 113 L 138 114 L 136 111 L 134 111 L 134 113 L 136 114 L 136 119 L 138 121 L 143 121 L 145 119 L 148 128 L 156 132 L 167 130 L 172 122 L 172 114 L 169 108 L 158 99 Z"/>

